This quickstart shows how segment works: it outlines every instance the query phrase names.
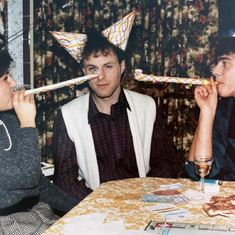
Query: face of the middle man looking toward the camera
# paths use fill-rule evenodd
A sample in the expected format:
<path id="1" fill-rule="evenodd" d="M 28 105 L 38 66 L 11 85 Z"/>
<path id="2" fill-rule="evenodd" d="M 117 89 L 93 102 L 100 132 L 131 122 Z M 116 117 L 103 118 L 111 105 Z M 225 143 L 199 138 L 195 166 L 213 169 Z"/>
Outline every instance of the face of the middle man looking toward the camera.
<path id="1" fill-rule="evenodd" d="M 124 69 L 125 61 L 119 64 L 118 57 L 113 52 L 107 56 L 100 53 L 98 57 L 91 55 L 89 59 L 84 59 L 86 75 L 98 71 L 98 77 L 89 81 L 94 98 L 111 98 L 117 101 L 120 94 L 120 79 Z"/>

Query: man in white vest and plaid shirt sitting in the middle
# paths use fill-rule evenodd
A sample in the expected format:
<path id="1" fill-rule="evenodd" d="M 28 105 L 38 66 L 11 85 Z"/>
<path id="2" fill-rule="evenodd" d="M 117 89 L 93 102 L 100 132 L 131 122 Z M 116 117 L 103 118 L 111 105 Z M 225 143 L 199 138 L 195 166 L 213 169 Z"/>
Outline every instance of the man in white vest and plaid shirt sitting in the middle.
<path id="1" fill-rule="evenodd" d="M 54 183 L 78 200 L 111 180 L 176 177 L 177 160 L 154 100 L 120 85 L 130 24 L 119 22 L 86 35 L 79 52 L 78 44 L 67 44 L 84 73 L 97 75 L 88 81 L 90 92 L 64 105 L 54 123 Z"/>

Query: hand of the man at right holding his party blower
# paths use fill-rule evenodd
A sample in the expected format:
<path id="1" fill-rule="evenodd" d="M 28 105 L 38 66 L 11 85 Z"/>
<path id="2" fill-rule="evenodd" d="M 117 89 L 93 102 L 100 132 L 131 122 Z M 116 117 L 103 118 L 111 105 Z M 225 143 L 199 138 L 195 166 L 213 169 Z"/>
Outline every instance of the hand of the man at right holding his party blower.
<path id="1" fill-rule="evenodd" d="M 210 85 L 198 86 L 195 89 L 194 97 L 201 112 L 215 114 L 218 92 L 213 78 L 210 78 Z"/>

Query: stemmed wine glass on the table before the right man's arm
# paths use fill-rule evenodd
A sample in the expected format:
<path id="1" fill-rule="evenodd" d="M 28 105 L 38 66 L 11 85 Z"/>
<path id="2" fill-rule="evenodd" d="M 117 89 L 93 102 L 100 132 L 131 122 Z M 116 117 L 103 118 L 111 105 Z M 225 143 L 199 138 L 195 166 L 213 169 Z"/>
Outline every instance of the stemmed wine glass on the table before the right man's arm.
<path id="1" fill-rule="evenodd" d="M 211 156 L 199 155 L 194 157 L 195 170 L 200 175 L 200 190 L 204 192 L 204 177 L 209 174 L 214 158 Z"/>

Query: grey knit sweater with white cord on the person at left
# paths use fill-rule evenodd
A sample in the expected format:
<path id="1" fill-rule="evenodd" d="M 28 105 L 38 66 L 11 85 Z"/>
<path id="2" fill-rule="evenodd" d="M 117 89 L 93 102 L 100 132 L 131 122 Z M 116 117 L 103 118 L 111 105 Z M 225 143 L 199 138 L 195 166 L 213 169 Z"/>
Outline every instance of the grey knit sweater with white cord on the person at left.
<path id="1" fill-rule="evenodd" d="M 37 129 L 20 128 L 15 115 L 6 115 L 3 121 L 5 127 L 1 125 L 0 128 L 0 140 L 4 140 L 0 141 L 2 172 L 0 185 L 6 187 L 7 182 L 9 191 L 35 188 L 40 177 L 38 169 L 41 161 Z M 5 151 L 4 149 L 8 147 L 9 151 Z"/>

